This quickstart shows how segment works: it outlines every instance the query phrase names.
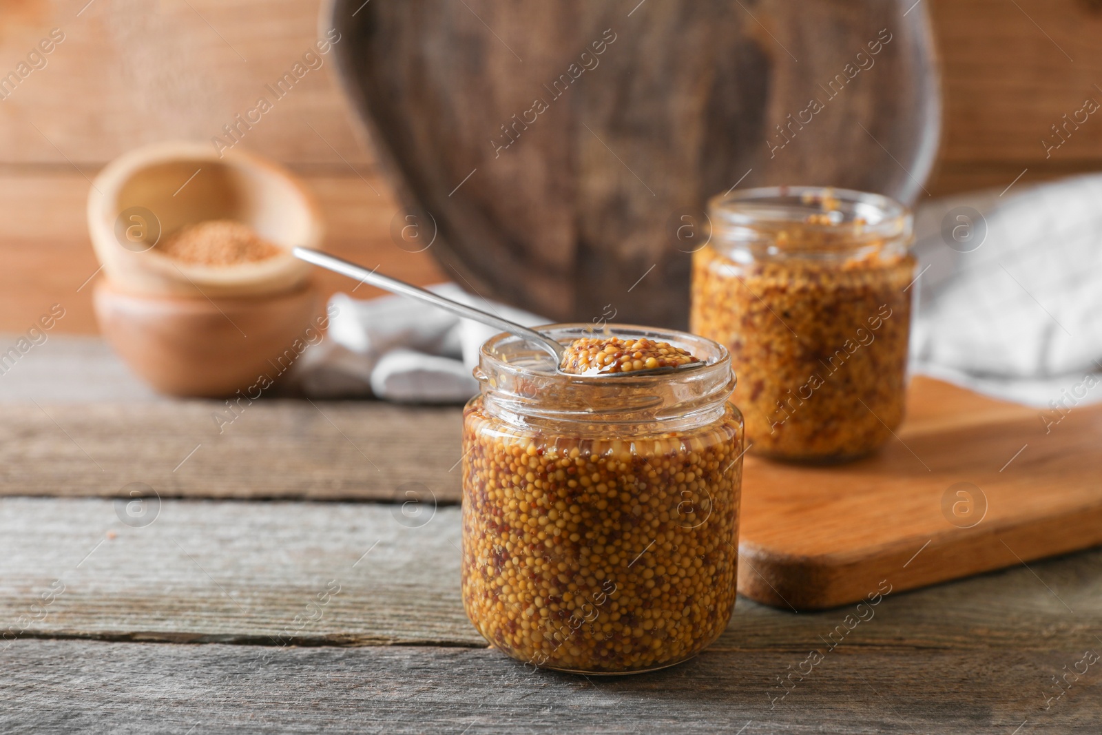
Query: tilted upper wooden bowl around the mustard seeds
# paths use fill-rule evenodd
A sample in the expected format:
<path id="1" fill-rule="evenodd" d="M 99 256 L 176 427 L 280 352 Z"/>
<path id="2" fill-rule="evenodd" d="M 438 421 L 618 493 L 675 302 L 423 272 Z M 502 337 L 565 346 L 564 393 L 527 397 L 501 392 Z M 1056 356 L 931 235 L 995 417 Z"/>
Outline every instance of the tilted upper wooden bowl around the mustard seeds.
<path id="1" fill-rule="evenodd" d="M 154 247 L 185 225 L 234 219 L 284 252 L 230 267 L 183 263 Z M 299 288 L 310 266 L 291 248 L 316 248 L 322 218 L 306 190 L 282 167 L 206 143 L 165 142 L 105 167 L 88 194 L 88 230 L 107 275 L 130 293 L 217 298 Z"/>

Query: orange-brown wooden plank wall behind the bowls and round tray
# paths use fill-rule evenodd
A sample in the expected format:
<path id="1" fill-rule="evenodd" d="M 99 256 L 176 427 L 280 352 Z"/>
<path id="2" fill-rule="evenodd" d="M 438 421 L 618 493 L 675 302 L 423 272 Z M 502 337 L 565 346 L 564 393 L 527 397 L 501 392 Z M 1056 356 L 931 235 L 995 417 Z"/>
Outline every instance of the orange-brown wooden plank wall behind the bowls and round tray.
<path id="1" fill-rule="evenodd" d="M 1040 142 L 1085 98 L 1102 101 L 1102 2 L 919 1 L 944 87 L 934 196 L 1004 187 L 1023 172 L 1020 182 L 1037 182 L 1102 169 L 1102 116 L 1048 159 Z M 0 101 L 0 332 L 24 332 L 53 303 L 66 309 L 58 332 L 95 332 L 83 285 L 97 268 L 89 180 L 137 145 L 218 134 L 311 46 L 317 13 L 316 0 L 0 1 L 0 75 L 52 29 L 65 34 Z M 390 240 L 397 205 L 357 139 L 331 58 L 241 145 L 305 180 L 338 255 L 419 283 L 442 278 L 428 253 Z M 326 285 L 344 287 L 337 277 Z"/>

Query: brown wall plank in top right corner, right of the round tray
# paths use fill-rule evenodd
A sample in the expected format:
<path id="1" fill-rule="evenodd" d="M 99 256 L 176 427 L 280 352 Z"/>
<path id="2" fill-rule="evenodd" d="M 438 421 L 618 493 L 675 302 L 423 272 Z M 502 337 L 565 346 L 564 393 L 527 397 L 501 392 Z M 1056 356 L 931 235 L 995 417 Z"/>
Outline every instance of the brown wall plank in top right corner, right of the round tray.
<path id="1" fill-rule="evenodd" d="M 1088 97 L 1102 74 L 1102 13 L 1080 0 L 933 0 L 942 53 L 947 161 L 1045 161 L 1040 141 Z M 1051 159 L 1098 160 L 1102 120 L 1081 115 Z"/>

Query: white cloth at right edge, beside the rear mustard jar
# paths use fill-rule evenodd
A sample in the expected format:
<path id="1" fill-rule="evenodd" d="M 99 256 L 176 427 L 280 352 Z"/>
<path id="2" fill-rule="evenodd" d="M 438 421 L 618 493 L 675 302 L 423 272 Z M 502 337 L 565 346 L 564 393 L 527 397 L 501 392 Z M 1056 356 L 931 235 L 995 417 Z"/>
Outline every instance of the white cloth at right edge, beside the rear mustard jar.
<path id="1" fill-rule="evenodd" d="M 1040 409 L 1102 401 L 1100 205 L 1092 174 L 920 207 L 912 371 Z"/>

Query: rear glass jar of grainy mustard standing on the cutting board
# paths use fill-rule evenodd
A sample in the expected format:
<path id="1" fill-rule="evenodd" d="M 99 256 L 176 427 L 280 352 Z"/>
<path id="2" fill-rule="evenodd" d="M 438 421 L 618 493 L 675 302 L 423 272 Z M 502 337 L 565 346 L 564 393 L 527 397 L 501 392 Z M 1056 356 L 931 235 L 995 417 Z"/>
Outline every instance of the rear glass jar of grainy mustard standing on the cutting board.
<path id="1" fill-rule="evenodd" d="M 781 186 L 715 197 L 709 216 L 690 328 L 731 350 L 750 451 L 841 462 L 884 443 L 904 413 L 910 212 Z"/>

